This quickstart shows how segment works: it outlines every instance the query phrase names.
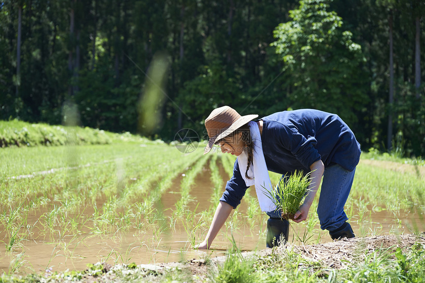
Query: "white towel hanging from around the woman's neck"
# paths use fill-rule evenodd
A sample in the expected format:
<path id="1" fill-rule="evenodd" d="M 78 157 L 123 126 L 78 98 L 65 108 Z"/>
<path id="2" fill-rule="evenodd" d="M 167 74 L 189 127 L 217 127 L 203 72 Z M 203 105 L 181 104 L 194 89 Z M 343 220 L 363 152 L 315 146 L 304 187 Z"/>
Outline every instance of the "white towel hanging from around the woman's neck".
<path id="1" fill-rule="evenodd" d="M 245 176 L 246 168 L 248 165 L 248 154 L 244 151 L 238 156 L 239 169 L 242 178 L 245 180 L 247 186 L 255 185 L 255 192 L 257 194 L 258 203 L 260 204 L 261 211 L 274 211 L 276 205 L 265 194 L 267 190 L 272 190 L 270 176 L 268 174 L 267 165 L 264 160 L 263 148 L 261 145 L 261 135 L 258 125 L 254 121 L 248 123 L 251 131 L 251 139 L 254 143 L 254 158 L 248 169 L 248 176 L 254 177 L 248 179 Z"/>

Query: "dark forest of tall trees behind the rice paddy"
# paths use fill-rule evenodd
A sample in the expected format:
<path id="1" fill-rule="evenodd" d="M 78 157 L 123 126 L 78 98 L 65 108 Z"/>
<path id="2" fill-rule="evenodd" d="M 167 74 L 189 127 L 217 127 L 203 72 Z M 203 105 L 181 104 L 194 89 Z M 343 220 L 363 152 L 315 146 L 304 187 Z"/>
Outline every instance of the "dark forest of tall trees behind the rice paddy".
<path id="1" fill-rule="evenodd" d="M 424 15 L 424 0 L 3 0 L 0 120 L 60 124 L 73 104 L 83 126 L 173 140 L 207 138 L 222 105 L 315 108 L 362 150 L 424 157 Z M 168 71 L 149 104 L 152 64 Z"/>

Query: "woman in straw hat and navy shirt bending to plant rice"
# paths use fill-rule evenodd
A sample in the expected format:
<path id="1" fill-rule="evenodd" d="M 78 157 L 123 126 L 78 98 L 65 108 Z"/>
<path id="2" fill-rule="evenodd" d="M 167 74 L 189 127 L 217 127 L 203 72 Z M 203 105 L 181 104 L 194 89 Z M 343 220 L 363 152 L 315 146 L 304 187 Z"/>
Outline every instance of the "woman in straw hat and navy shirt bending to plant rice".
<path id="1" fill-rule="evenodd" d="M 204 154 L 216 144 L 223 153 L 237 156 L 237 160 L 206 239 L 197 248 L 210 248 L 251 185 L 255 185 L 261 210 L 270 217 L 267 247 L 288 240 L 288 220 L 281 218 L 280 210 L 264 194 L 264 188 L 271 187 L 268 171 L 283 176 L 295 170 L 311 172 L 309 191 L 295 213 L 295 222 L 307 219 L 323 176 L 317 207 L 320 228 L 328 230 L 332 239 L 355 237 L 344 212 L 360 159 L 360 144 L 350 128 L 337 115 L 312 109 L 277 112 L 252 121 L 257 117 L 241 116 L 223 106 L 214 109 L 205 120 L 210 140 Z"/>

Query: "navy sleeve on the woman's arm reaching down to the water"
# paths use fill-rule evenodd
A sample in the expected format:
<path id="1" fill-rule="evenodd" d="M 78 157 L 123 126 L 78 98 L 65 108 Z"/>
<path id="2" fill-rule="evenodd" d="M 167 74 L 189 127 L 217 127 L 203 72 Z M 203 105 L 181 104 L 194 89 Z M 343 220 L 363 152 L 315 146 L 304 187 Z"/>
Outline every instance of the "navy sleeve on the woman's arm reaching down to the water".
<path id="1" fill-rule="evenodd" d="M 233 176 L 227 181 L 226 190 L 221 196 L 220 202 L 227 202 L 233 208 L 236 208 L 241 203 L 248 188 L 249 186 L 245 184 L 245 180 L 242 178 L 241 171 L 239 170 L 238 160 L 236 160 L 233 166 Z"/>

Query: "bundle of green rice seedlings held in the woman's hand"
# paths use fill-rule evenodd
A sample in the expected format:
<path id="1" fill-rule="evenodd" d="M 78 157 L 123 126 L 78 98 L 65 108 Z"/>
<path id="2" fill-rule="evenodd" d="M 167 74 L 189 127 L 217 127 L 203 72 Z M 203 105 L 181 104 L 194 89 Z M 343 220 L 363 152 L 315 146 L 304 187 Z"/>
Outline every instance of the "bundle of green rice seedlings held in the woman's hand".
<path id="1" fill-rule="evenodd" d="M 310 172 L 304 176 L 303 171 L 296 170 L 294 174 L 280 178 L 275 190 L 266 189 L 266 196 L 273 201 L 277 209 L 281 209 L 282 218 L 294 219 L 301 200 L 309 191 L 310 182 Z"/>

